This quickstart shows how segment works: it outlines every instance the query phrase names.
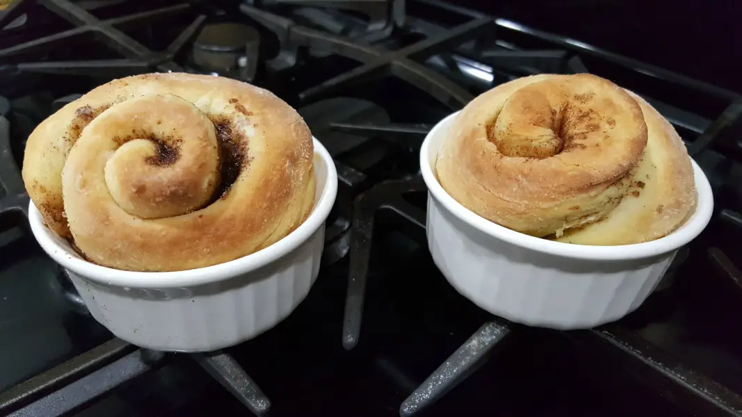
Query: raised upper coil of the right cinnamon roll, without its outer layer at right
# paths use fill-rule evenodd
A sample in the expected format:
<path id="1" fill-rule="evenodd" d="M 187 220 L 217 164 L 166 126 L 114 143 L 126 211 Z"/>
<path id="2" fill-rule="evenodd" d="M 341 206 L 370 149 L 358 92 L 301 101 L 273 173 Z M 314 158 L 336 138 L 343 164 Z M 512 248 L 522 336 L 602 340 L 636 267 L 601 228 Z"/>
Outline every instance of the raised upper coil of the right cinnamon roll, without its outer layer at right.
<path id="1" fill-rule="evenodd" d="M 444 189 L 482 217 L 559 238 L 641 194 L 632 179 L 648 138 L 642 108 L 612 82 L 533 76 L 470 102 L 441 145 L 436 170 Z"/>

